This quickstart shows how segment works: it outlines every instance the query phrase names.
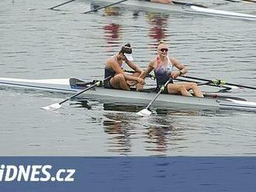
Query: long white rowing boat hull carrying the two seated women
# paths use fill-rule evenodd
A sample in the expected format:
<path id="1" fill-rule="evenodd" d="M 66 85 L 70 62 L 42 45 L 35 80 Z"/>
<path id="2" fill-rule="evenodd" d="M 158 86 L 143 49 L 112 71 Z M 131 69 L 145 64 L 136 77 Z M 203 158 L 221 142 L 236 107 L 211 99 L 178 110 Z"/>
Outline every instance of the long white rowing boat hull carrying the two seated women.
<path id="1" fill-rule="evenodd" d="M 0 87 L 20 87 L 33 90 L 50 92 L 62 92 L 74 94 L 81 89 L 85 89 L 84 81 L 70 79 L 43 79 L 30 80 L 19 78 L 0 77 Z M 147 105 L 156 95 L 155 91 L 123 91 L 116 89 L 106 89 L 95 87 L 83 94 L 87 99 L 98 101 L 110 101 L 115 103 Z M 256 102 L 246 101 L 244 98 L 230 96 L 219 96 L 216 94 L 206 95 L 205 98 L 185 97 L 181 95 L 160 94 L 153 105 L 155 108 L 189 108 L 189 109 L 238 109 L 246 111 L 256 111 Z"/>

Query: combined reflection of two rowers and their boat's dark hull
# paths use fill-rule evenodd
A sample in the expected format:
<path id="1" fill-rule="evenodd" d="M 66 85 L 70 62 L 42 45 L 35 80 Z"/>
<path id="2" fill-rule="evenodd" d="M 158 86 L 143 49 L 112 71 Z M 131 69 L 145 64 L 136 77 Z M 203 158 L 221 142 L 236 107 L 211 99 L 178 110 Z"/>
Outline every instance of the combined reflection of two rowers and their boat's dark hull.
<path id="1" fill-rule="evenodd" d="M 76 105 L 93 110 L 96 104 L 90 105 L 90 101 L 81 101 Z M 182 148 L 179 142 L 186 139 L 185 128 L 179 127 L 175 118 L 171 117 L 181 115 L 181 111 L 159 111 L 160 115 L 156 113 L 150 117 L 140 117 L 136 112 L 144 106 L 99 102 L 97 105 L 102 105 L 104 110 L 101 117 L 102 128 L 111 135 L 106 142 L 110 153 L 127 155 L 141 150 L 143 155 L 165 156 L 172 149 Z M 186 111 L 183 116 L 197 114 L 196 111 Z"/>

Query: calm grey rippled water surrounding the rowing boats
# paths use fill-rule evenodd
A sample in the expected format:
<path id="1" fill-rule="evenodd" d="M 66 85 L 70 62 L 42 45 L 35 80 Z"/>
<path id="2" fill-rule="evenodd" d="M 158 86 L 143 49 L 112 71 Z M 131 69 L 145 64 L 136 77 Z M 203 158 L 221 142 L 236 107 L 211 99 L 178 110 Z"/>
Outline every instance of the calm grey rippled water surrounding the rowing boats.
<path id="1" fill-rule="evenodd" d="M 47 9 L 61 2 L 0 2 L 0 77 L 99 79 L 105 60 L 124 43 L 132 44 L 135 62 L 146 67 L 158 40 L 165 39 L 189 74 L 256 86 L 256 22 L 124 5 L 84 15 L 95 2 L 81 0 L 58 12 Z M 205 4 L 256 15 L 256 4 Z M 256 101 L 255 91 L 237 94 Z M 145 118 L 135 115 L 137 106 L 99 101 L 40 109 L 66 97 L 1 88 L 1 156 L 256 155 L 254 113 L 154 108 Z"/>

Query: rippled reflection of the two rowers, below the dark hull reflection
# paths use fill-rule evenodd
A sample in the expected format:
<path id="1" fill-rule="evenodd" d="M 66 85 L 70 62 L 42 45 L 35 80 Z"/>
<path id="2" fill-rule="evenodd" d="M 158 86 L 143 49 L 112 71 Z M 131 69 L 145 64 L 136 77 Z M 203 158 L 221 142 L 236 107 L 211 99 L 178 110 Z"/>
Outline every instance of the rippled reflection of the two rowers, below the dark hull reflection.
<path id="1" fill-rule="evenodd" d="M 109 151 L 131 153 L 140 150 L 154 155 L 164 155 L 172 140 L 173 127 L 163 122 L 143 122 L 126 113 L 108 113 L 102 122 L 104 132 L 112 135 L 109 138 Z M 142 143 L 141 143 L 142 142 Z M 153 152 L 153 153 L 152 153 Z"/>

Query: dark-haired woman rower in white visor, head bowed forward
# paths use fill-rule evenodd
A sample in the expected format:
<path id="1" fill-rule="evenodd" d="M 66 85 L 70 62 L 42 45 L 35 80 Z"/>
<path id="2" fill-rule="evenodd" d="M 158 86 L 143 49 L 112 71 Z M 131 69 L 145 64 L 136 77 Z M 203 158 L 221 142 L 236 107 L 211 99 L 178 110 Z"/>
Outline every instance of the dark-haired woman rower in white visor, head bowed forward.
<path id="1" fill-rule="evenodd" d="M 140 89 L 145 84 L 144 79 L 140 77 L 143 70 L 133 63 L 132 53 L 132 47 L 130 43 L 127 43 L 125 46 L 122 46 L 119 53 L 106 61 L 105 77 L 112 76 L 112 78 L 104 82 L 104 87 L 130 90 L 130 86 L 136 85 L 137 89 Z M 123 61 L 135 71 L 134 74 L 124 73 Z"/>

